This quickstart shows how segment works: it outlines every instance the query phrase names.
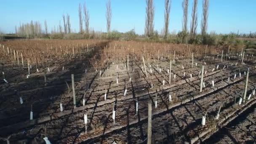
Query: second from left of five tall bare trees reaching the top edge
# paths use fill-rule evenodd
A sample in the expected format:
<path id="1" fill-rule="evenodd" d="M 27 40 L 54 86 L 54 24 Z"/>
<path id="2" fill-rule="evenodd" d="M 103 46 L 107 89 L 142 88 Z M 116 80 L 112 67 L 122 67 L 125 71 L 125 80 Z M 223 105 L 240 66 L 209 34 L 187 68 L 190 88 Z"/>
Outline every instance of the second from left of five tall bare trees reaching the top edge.
<path id="1" fill-rule="evenodd" d="M 169 16 L 171 10 L 171 0 L 165 0 L 165 25 L 163 29 L 164 37 L 167 38 L 169 32 Z"/>

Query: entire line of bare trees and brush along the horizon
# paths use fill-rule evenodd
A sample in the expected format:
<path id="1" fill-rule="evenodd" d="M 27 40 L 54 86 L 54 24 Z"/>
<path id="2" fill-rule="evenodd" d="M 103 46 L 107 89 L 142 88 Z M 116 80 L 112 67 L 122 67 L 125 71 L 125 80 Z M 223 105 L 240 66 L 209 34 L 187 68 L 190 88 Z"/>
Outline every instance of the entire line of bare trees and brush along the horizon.
<path id="1" fill-rule="evenodd" d="M 201 35 L 197 35 L 197 26 L 198 26 L 198 0 L 193 0 L 192 3 L 192 13 L 191 13 L 191 22 L 190 29 L 188 28 L 188 8 L 189 0 L 183 0 L 182 10 L 182 30 L 176 34 L 175 32 L 169 33 L 169 24 L 170 24 L 170 12 L 171 12 L 171 0 L 165 0 L 164 3 L 164 26 L 160 34 L 157 31 L 154 31 L 154 16 L 155 16 L 155 5 L 154 0 L 146 0 L 146 16 L 145 16 L 145 29 L 144 36 L 149 37 L 150 39 L 159 40 L 159 38 L 165 39 L 165 41 L 170 40 L 173 42 L 175 40 L 177 43 L 205 43 L 207 39 L 212 39 L 211 35 L 207 34 L 208 27 L 208 11 L 209 11 L 209 0 L 203 0 L 202 8 L 202 19 L 201 19 Z M 108 0 L 106 3 L 106 24 L 107 24 L 107 35 L 102 32 L 94 31 L 93 28 L 89 27 L 90 24 L 90 15 L 86 3 L 81 3 L 78 6 L 78 16 L 79 16 L 79 33 L 80 36 L 72 35 L 74 38 L 95 38 L 95 37 L 105 37 L 105 38 L 114 38 L 118 39 L 120 37 L 125 37 L 125 39 L 132 40 L 136 35 L 134 29 L 126 33 L 120 33 L 117 31 L 111 31 L 111 20 L 112 20 L 112 9 L 111 9 L 111 0 Z M 84 25 L 83 25 L 84 24 Z M 42 31 L 42 26 L 39 21 L 31 21 L 31 23 L 20 24 L 19 27 L 15 27 L 16 34 L 19 36 L 26 37 L 41 37 L 48 35 L 48 26 L 47 21 L 44 22 L 45 32 Z M 51 29 L 51 34 L 70 34 L 74 33 L 71 29 L 70 16 L 69 14 L 62 15 L 62 22 L 59 21 L 59 25 L 54 26 Z M 237 35 L 238 32 L 237 32 Z M 250 34 L 240 34 L 240 37 L 255 37 L 255 33 Z M 66 37 L 67 35 L 55 35 L 56 37 Z M 141 37 L 140 37 L 141 38 Z"/>

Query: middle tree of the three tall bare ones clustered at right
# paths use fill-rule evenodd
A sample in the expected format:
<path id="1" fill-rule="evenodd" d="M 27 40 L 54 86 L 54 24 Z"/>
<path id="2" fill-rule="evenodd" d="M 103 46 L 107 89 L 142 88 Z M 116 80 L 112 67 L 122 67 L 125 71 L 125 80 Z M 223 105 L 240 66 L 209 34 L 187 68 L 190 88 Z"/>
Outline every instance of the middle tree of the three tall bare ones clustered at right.
<path id="1" fill-rule="evenodd" d="M 198 0 L 194 0 L 193 8 L 192 8 L 192 20 L 191 20 L 191 27 L 190 27 L 190 35 L 191 37 L 195 37 L 196 31 L 197 31 L 197 3 Z"/>

